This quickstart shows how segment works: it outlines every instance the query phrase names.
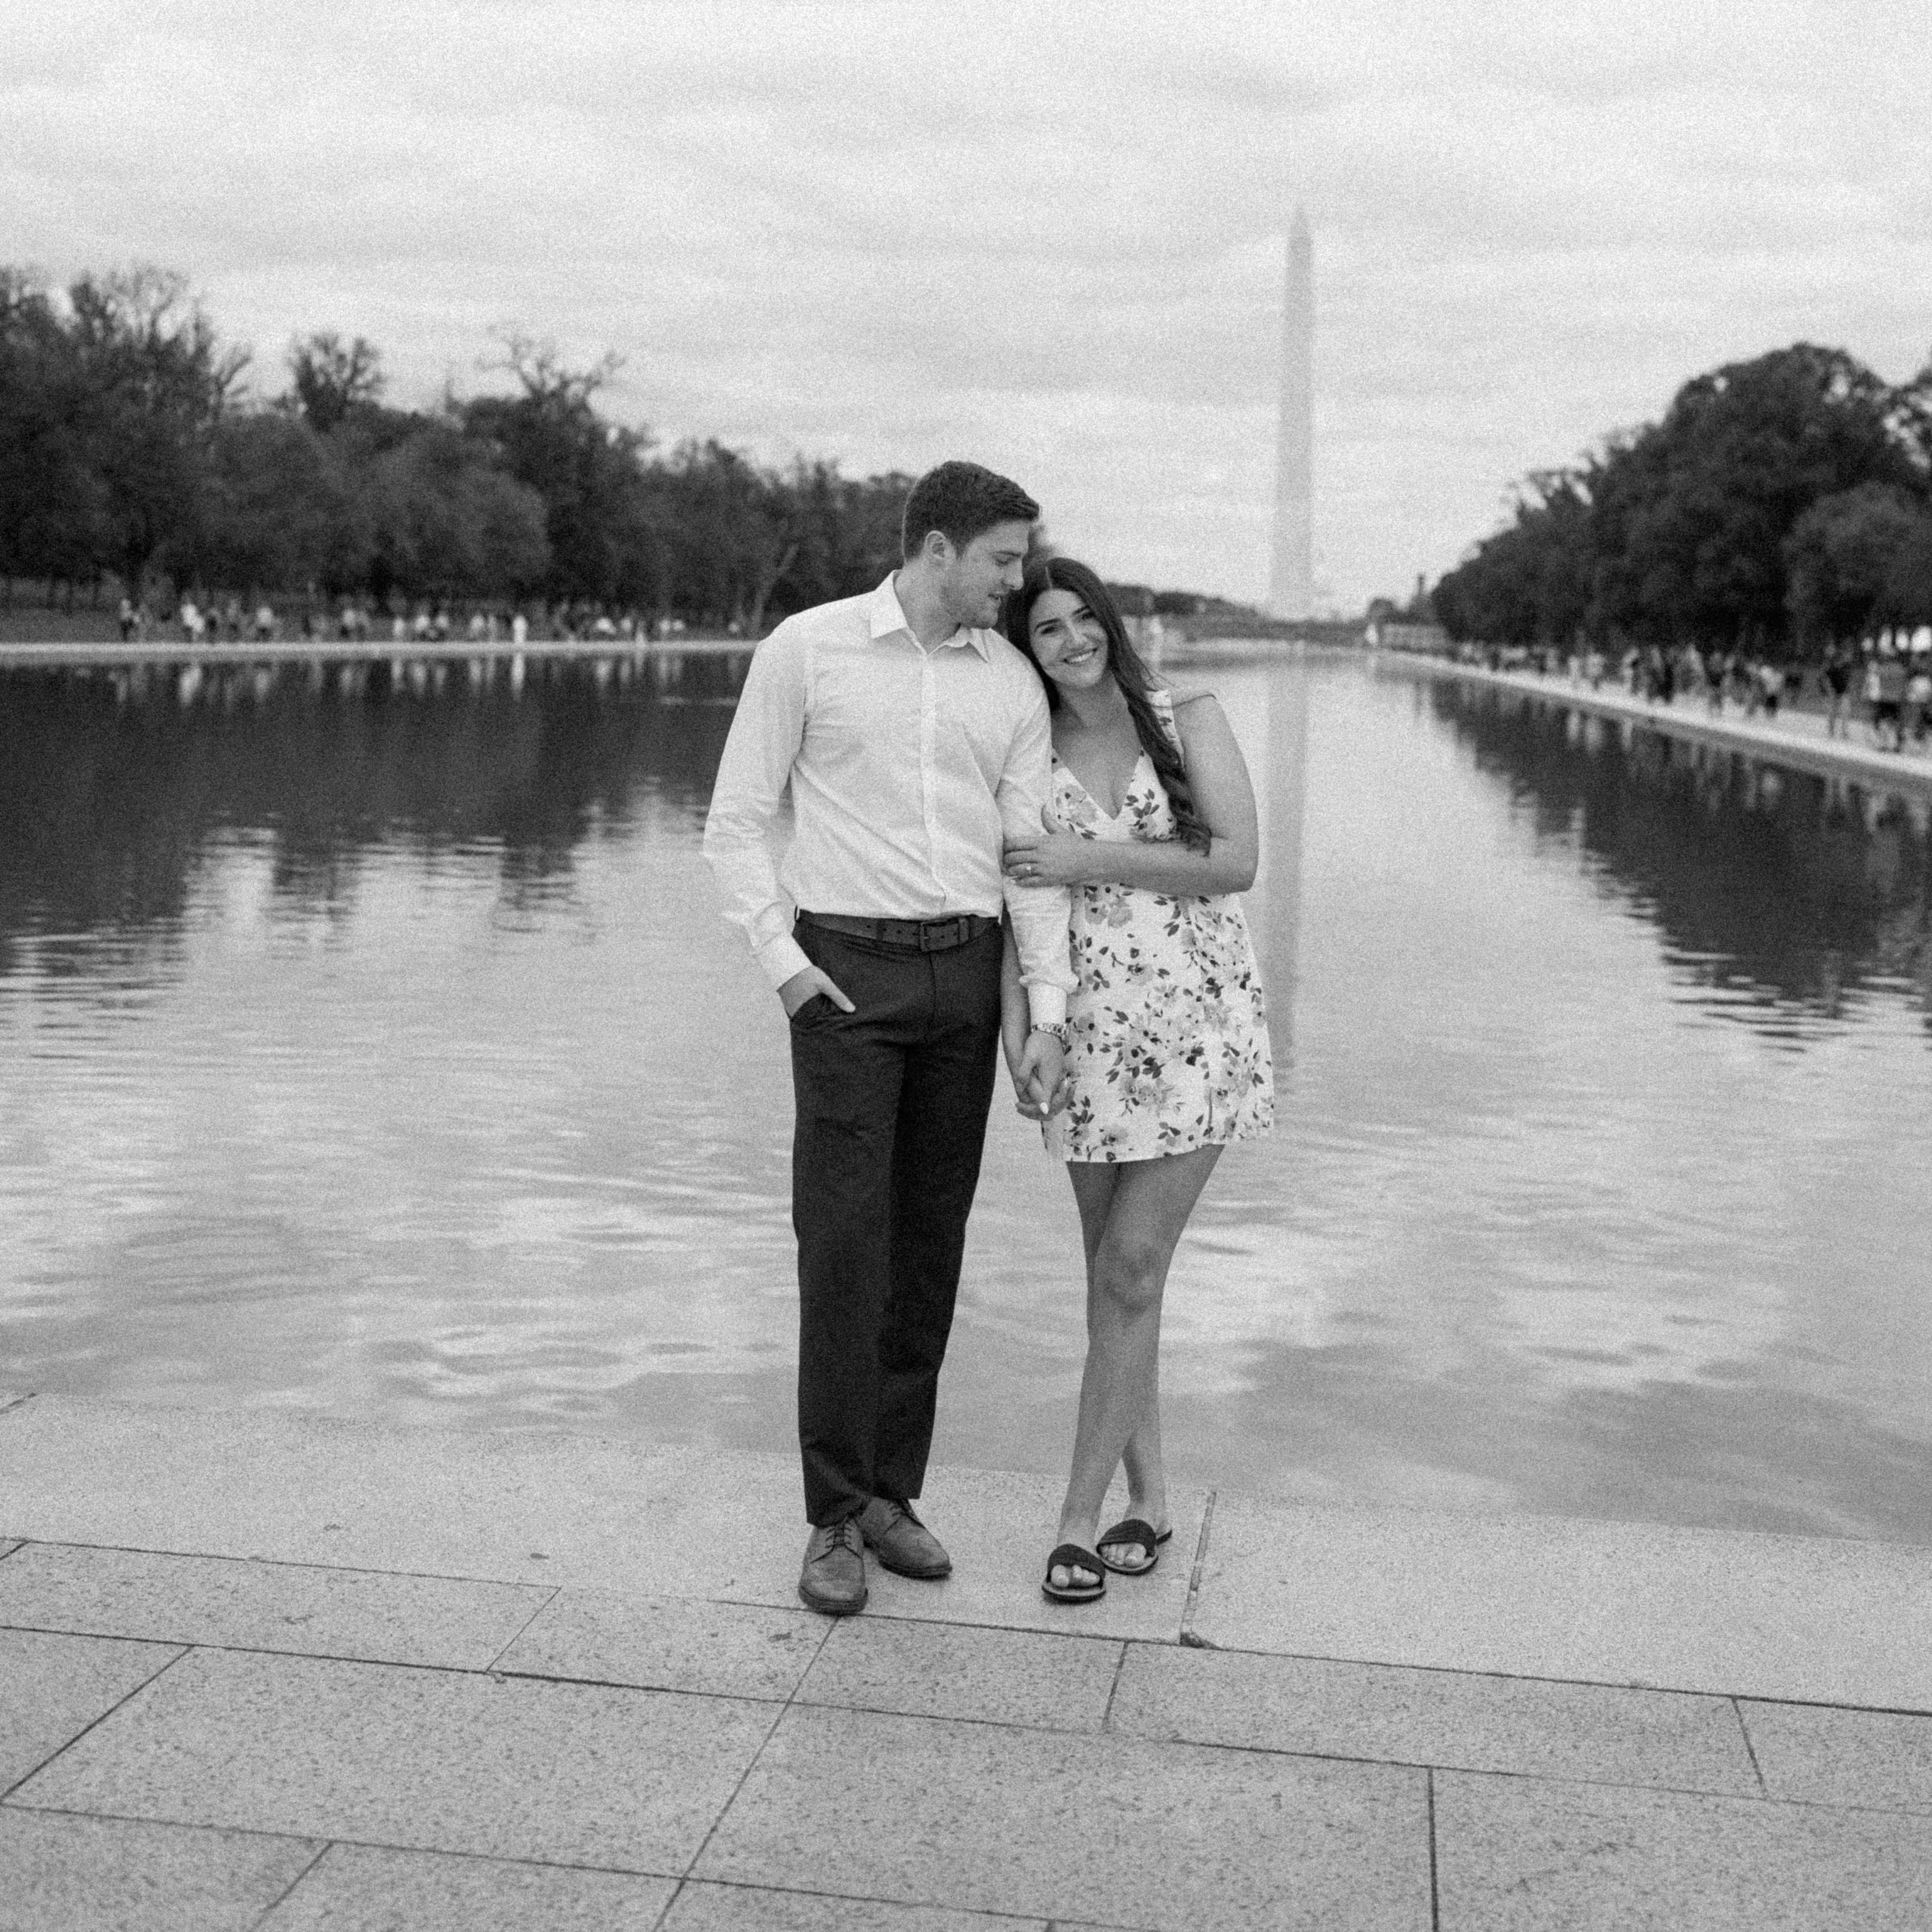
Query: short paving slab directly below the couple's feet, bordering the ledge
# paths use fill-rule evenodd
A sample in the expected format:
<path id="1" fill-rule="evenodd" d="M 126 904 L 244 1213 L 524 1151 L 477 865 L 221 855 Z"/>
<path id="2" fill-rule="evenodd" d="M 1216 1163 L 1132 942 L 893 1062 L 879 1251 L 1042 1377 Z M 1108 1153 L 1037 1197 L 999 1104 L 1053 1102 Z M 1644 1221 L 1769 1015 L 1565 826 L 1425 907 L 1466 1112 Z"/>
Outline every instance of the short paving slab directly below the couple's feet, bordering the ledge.
<path id="1" fill-rule="evenodd" d="M 813 1660 L 798 1702 L 1097 1731 L 1121 1648 L 1109 1638 L 848 1617 Z"/>

